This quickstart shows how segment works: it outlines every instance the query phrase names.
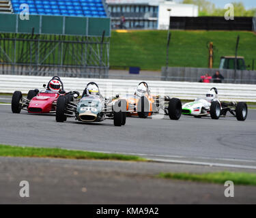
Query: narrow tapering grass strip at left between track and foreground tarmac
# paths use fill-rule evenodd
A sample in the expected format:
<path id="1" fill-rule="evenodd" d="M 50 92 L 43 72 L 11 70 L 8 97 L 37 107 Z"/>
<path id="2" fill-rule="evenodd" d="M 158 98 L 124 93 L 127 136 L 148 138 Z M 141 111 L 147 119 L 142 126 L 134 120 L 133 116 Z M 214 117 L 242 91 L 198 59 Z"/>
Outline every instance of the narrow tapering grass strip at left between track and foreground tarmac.
<path id="1" fill-rule="evenodd" d="M 133 155 L 106 154 L 66 149 L 33 148 L 0 144 L 2 157 L 52 157 L 62 159 L 104 159 L 119 161 L 147 161 Z"/>

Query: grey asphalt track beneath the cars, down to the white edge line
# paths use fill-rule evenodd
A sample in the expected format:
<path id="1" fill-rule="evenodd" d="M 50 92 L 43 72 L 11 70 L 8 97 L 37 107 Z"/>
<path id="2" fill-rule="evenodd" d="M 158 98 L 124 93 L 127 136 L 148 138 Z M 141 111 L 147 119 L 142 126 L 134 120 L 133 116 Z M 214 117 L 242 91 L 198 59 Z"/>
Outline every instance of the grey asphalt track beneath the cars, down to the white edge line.
<path id="1" fill-rule="evenodd" d="M 234 117 L 212 120 L 182 116 L 180 121 L 128 118 L 126 125 L 113 121 L 81 123 L 69 118 L 57 123 L 54 115 L 12 114 L 0 105 L 2 144 L 47 146 L 110 153 L 132 153 L 157 159 L 227 159 L 256 166 L 256 110 L 246 121 Z M 250 165 L 251 165 L 250 164 Z"/>

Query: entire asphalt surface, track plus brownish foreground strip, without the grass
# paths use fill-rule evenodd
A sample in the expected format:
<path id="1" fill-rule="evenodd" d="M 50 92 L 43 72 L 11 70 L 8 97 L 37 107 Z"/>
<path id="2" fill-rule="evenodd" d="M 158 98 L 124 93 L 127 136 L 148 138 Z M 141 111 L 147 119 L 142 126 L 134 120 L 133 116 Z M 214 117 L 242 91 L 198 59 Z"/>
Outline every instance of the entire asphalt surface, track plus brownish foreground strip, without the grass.
<path id="1" fill-rule="evenodd" d="M 255 172 L 256 110 L 249 110 L 244 122 L 232 117 L 131 117 L 126 126 L 115 127 L 113 121 L 57 123 L 54 115 L 12 114 L 10 105 L 0 104 L 0 121 L 0 144 L 126 153 L 159 162 L 1 157 L 0 203 L 256 202 L 255 187 L 239 186 L 237 198 L 227 201 L 223 185 L 153 178 L 159 172 Z M 25 202 L 15 192 L 23 179 L 34 185 L 34 198 Z"/>

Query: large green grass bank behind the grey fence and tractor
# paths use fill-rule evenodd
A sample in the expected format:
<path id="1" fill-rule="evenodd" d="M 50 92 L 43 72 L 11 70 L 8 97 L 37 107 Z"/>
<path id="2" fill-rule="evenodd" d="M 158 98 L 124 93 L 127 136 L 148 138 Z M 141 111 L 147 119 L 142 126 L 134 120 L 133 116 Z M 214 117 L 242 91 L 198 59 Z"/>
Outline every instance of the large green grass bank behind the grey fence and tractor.
<path id="1" fill-rule="evenodd" d="M 246 31 L 171 31 L 170 67 L 208 67 L 208 43 L 214 44 L 214 68 L 221 56 L 235 55 L 240 35 L 239 55 L 246 65 L 256 57 L 256 35 Z M 112 31 L 110 65 L 138 66 L 143 70 L 160 70 L 166 65 L 167 31 Z M 118 67 L 117 67 L 118 69 Z"/>

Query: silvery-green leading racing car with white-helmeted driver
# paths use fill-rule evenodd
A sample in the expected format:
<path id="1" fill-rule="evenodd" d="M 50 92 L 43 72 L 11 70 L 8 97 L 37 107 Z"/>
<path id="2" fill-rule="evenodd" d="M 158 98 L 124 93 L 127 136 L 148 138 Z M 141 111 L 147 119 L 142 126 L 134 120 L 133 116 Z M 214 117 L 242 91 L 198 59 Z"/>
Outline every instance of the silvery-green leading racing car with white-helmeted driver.
<path id="1" fill-rule="evenodd" d="M 112 104 L 100 94 L 98 84 L 89 82 L 81 99 L 60 96 L 57 100 L 56 121 L 64 122 L 67 117 L 85 123 L 101 122 L 112 119 L 115 126 L 126 124 L 126 105 L 124 99 Z"/>

